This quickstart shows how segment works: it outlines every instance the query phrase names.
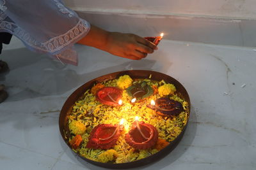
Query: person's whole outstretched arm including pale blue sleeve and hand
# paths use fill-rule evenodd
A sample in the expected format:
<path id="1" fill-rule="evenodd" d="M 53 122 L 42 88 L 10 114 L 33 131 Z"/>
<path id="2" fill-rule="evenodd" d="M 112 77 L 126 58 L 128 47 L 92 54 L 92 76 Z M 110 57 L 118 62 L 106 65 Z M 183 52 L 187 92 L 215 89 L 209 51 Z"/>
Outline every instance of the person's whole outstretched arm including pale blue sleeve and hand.
<path id="1" fill-rule="evenodd" d="M 0 20 L 0 29 L 17 36 L 29 50 L 47 53 L 63 62 L 77 65 L 77 53 L 72 48 L 77 41 L 136 60 L 156 49 L 154 44 L 140 36 L 108 32 L 93 25 L 90 27 L 88 22 L 59 0 L 22 2 L 6 1 L 6 17 Z"/>

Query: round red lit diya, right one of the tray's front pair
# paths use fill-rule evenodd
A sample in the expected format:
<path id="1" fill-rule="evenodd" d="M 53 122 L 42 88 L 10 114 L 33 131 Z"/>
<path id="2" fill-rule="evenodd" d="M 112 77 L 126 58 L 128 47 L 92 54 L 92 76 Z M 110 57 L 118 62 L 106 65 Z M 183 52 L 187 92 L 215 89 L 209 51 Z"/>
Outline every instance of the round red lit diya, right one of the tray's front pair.
<path id="1" fill-rule="evenodd" d="M 145 150 L 156 145 L 158 132 L 156 127 L 145 122 L 138 121 L 138 117 L 133 122 L 131 130 L 125 134 L 125 141 L 137 150 Z"/>

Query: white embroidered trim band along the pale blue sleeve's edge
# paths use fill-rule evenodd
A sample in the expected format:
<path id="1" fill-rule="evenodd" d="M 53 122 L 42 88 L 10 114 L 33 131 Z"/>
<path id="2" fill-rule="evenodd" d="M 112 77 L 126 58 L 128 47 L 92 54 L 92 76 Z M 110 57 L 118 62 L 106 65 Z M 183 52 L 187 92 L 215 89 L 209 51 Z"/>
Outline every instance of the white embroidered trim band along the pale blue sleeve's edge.
<path id="1" fill-rule="evenodd" d="M 28 46 L 31 46 L 36 50 L 51 54 L 54 54 L 61 50 L 63 47 L 70 45 L 70 43 L 72 43 L 74 40 L 81 38 L 81 34 L 88 32 L 89 29 L 90 24 L 80 18 L 77 25 L 67 31 L 65 34 L 51 38 L 44 43 L 38 43 L 38 41 L 30 36 L 28 32 L 24 31 L 24 29 L 20 28 L 15 23 L 3 20 L 0 22 L 0 31 L 10 32 L 10 34 L 20 38 Z"/>

